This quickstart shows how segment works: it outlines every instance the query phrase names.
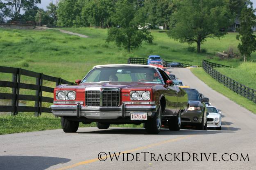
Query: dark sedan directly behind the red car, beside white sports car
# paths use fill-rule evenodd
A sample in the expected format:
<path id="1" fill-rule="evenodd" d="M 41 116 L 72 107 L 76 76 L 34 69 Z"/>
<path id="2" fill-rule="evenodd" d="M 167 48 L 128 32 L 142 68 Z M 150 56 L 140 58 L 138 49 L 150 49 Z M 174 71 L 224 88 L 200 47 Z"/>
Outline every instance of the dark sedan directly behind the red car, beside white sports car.
<path id="1" fill-rule="evenodd" d="M 207 97 L 201 97 L 194 88 L 183 88 L 188 94 L 188 110 L 181 116 L 183 126 L 196 126 L 198 130 L 207 130 L 207 109 L 204 102 L 209 102 Z"/>

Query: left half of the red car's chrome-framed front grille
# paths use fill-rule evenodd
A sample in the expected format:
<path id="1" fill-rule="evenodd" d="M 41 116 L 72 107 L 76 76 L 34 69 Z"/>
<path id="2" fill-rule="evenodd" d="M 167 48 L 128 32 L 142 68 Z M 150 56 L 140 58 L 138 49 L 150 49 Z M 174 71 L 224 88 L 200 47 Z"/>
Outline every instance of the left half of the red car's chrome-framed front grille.
<path id="1" fill-rule="evenodd" d="M 86 106 L 100 106 L 100 91 L 86 91 L 85 103 Z"/>

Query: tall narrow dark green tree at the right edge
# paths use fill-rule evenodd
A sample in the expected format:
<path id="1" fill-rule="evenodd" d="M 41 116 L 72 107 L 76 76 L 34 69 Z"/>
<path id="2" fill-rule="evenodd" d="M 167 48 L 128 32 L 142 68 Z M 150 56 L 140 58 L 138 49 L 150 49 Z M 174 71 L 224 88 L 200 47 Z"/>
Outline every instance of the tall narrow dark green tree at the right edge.
<path id="1" fill-rule="evenodd" d="M 256 36 L 253 35 L 251 29 L 256 25 L 256 9 L 253 9 L 252 2 L 249 2 L 246 7 L 241 11 L 240 15 L 240 28 L 238 29 L 239 35 L 236 36 L 237 40 L 241 43 L 238 44 L 238 49 L 244 57 L 244 62 L 249 60 L 251 53 L 256 50 Z"/>

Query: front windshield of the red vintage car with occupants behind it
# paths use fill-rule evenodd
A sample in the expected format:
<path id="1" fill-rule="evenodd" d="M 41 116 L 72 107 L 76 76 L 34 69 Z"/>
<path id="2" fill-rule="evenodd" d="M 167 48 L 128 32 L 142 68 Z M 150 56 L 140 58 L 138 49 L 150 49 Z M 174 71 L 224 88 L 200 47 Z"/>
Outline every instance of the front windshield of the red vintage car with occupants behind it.
<path id="1" fill-rule="evenodd" d="M 164 84 L 159 73 L 150 67 L 116 66 L 94 68 L 82 83 L 88 82 L 145 82 Z"/>

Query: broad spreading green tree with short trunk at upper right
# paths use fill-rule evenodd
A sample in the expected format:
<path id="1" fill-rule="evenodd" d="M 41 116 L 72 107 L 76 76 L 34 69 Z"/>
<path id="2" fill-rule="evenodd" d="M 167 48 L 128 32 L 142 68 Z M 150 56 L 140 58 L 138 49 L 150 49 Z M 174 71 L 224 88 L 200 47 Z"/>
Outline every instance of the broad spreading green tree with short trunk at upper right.
<path id="1" fill-rule="evenodd" d="M 182 0 L 177 4 L 168 36 L 189 44 L 196 42 L 200 53 L 202 42 L 225 35 L 233 20 L 223 0 Z"/>

